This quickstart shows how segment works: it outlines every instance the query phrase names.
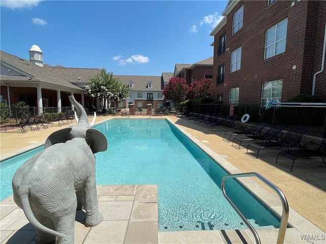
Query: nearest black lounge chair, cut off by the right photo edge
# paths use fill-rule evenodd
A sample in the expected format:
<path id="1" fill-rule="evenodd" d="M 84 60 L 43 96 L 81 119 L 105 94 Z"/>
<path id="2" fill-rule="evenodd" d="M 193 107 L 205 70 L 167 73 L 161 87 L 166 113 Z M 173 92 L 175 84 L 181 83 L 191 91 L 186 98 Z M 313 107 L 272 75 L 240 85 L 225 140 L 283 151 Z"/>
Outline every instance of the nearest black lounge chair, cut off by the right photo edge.
<path id="1" fill-rule="evenodd" d="M 279 159 L 279 156 L 286 157 L 292 160 L 292 167 L 295 160 L 297 159 L 316 159 L 321 158 L 324 163 L 326 163 L 326 137 L 324 137 L 320 144 L 309 141 L 305 145 L 305 148 L 293 149 L 291 147 L 287 147 L 284 151 L 280 151 L 276 158 L 276 164 Z"/>

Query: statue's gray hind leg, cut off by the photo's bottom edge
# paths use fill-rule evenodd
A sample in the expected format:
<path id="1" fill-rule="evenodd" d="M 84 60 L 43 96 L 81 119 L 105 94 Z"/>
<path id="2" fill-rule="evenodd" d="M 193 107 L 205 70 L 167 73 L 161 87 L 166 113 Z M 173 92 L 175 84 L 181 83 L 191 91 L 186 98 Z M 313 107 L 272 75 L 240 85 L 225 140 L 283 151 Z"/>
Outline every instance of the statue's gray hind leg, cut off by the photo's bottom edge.
<path id="1" fill-rule="evenodd" d="M 76 211 L 72 211 L 69 214 L 61 216 L 60 218 L 58 218 L 58 220 L 55 221 L 56 231 L 65 234 L 67 238 L 67 242 L 63 242 L 62 239 L 56 237 L 56 244 L 74 243 L 75 217 L 76 217 Z"/>

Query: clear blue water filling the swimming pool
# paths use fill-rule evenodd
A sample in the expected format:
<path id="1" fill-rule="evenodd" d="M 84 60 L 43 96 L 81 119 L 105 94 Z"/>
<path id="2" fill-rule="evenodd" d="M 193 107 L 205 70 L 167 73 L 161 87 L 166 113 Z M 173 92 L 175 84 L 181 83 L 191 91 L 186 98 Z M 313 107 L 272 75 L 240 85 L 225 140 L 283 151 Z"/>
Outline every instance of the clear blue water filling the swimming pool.
<path id="1" fill-rule="evenodd" d="M 220 189 L 227 172 L 170 121 L 111 119 L 94 128 L 108 140 L 108 149 L 95 155 L 97 185 L 158 185 L 159 231 L 247 228 Z M 41 150 L 0 164 L 1 200 L 12 194 L 15 170 Z M 235 180 L 227 179 L 226 191 L 255 228 L 279 227 Z"/>

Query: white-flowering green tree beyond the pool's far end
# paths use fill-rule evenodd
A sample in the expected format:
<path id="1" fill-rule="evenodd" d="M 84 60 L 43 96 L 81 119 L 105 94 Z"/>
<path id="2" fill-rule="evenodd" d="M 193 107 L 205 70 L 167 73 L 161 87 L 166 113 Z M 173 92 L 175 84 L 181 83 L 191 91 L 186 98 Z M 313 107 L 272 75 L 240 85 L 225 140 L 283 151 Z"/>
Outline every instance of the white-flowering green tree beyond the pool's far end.
<path id="1" fill-rule="evenodd" d="M 129 88 L 122 84 L 118 78 L 113 77 L 112 72 L 106 72 L 103 68 L 99 74 L 89 77 L 91 83 L 85 86 L 91 97 L 100 102 L 100 107 L 107 101 L 109 105 L 116 106 L 122 99 L 129 98 Z"/>

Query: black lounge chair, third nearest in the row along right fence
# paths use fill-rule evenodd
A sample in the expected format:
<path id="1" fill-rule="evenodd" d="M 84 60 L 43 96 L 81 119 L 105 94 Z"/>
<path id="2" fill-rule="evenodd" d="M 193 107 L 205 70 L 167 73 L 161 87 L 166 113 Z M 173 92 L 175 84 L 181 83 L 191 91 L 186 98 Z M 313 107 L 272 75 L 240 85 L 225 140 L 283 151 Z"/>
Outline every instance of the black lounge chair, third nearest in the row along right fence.
<path id="1" fill-rule="evenodd" d="M 259 133 L 254 133 L 252 135 L 240 135 L 236 136 L 232 140 L 232 145 L 234 148 L 234 143 L 238 141 L 239 147 L 236 149 L 240 149 L 242 142 L 253 141 L 253 140 L 261 140 L 261 141 L 271 141 L 277 137 L 277 135 L 285 129 L 284 125 L 275 125 L 268 129 L 265 133 L 262 133 L 262 130 Z M 248 149 L 247 149 L 248 150 Z"/>

